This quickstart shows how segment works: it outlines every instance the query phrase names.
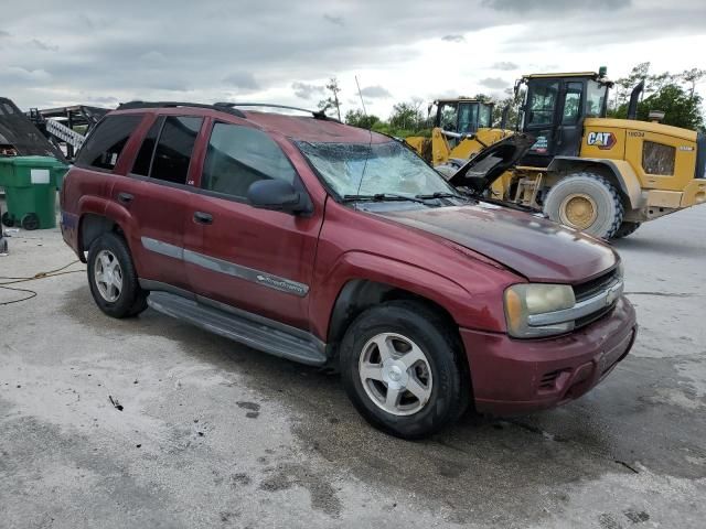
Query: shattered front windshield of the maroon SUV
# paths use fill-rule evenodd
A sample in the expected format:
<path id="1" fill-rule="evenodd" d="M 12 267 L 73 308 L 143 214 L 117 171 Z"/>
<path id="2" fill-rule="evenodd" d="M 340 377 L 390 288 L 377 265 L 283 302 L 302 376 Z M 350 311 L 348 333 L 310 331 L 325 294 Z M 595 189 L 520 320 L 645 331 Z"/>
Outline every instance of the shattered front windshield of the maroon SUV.
<path id="1" fill-rule="evenodd" d="M 397 141 L 297 144 L 341 197 L 379 194 L 415 197 L 435 193 L 458 196 L 439 173 Z"/>

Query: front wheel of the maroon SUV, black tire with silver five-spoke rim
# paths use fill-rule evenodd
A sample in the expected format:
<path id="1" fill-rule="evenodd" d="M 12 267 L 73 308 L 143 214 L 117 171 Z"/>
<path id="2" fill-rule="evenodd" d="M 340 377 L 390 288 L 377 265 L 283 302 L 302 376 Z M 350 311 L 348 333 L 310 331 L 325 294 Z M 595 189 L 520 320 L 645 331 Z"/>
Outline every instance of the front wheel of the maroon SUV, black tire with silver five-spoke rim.
<path id="1" fill-rule="evenodd" d="M 403 439 L 430 435 L 470 399 L 459 339 L 426 305 L 394 301 L 368 309 L 341 344 L 344 388 L 375 428 Z"/>

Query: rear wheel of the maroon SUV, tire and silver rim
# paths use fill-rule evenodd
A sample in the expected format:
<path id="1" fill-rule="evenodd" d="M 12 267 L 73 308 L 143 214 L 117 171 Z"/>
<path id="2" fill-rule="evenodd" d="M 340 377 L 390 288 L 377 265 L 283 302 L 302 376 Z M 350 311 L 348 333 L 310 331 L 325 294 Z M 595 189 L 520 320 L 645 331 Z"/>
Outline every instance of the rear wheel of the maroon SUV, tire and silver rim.
<path id="1" fill-rule="evenodd" d="M 87 271 L 93 299 L 107 315 L 122 319 L 147 309 L 147 292 L 140 288 L 130 250 L 119 235 L 103 234 L 90 245 Z"/>

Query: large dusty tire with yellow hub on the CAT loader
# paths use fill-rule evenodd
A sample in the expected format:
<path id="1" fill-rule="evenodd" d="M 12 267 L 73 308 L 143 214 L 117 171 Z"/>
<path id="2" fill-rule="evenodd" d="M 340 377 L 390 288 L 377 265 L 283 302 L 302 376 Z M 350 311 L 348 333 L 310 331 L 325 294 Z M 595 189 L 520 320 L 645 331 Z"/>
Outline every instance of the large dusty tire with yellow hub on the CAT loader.
<path id="1" fill-rule="evenodd" d="M 610 182 L 582 172 L 566 176 L 549 190 L 544 213 L 556 223 L 610 239 L 622 224 L 624 208 Z"/>

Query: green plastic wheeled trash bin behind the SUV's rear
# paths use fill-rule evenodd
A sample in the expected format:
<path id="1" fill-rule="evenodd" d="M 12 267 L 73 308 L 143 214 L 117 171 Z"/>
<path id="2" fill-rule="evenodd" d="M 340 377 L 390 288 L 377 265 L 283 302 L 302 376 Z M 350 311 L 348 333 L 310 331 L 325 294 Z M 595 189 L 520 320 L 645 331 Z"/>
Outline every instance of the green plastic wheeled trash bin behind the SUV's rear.
<path id="1" fill-rule="evenodd" d="M 67 170 L 51 156 L 0 158 L 0 186 L 7 201 L 2 224 L 24 229 L 56 227 L 56 190 Z"/>

